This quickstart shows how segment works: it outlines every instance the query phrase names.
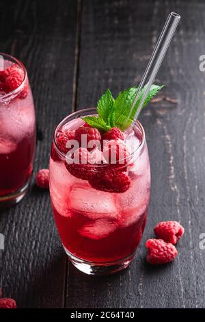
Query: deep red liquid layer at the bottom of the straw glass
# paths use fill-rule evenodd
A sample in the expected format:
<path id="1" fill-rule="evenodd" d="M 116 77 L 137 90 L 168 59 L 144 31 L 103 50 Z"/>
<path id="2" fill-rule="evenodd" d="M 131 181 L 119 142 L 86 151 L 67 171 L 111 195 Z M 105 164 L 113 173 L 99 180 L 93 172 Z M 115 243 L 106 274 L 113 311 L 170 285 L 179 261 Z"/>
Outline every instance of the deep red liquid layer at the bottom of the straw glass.
<path id="1" fill-rule="evenodd" d="M 72 219 L 66 219 L 66 217 L 62 218 L 55 208 L 53 212 L 66 249 L 75 256 L 92 262 L 112 262 L 133 253 L 141 240 L 146 224 L 146 212 L 144 212 L 133 225 L 125 228 L 118 227 L 105 238 L 92 239 L 78 233 L 83 225 L 90 223 L 85 216 L 73 212 Z M 109 223 L 114 225 L 114 221 L 113 223 L 108 221 Z M 102 224 L 103 219 L 99 225 Z"/>

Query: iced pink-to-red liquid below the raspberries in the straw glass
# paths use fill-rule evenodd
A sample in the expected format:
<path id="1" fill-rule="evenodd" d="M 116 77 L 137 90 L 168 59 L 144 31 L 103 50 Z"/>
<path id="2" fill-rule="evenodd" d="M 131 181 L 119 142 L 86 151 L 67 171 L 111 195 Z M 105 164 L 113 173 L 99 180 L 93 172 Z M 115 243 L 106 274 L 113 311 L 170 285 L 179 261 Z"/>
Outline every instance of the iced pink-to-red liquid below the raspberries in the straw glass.
<path id="1" fill-rule="evenodd" d="M 131 147 L 139 145 L 139 141 L 133 133 L 126 144 Z M 53 145 L 52 153 L 54 150 Z M 71 175 L 64 160 L 55 160 L 51 154 L 51 203 L 61 241 L 71 254 L 107 263 L 135 252 L 146 224 L 150 197 L 146 143 L 135 162 L 128 166 L 128 175 L 132 184 L 125 193 L 103 192 Z"/>

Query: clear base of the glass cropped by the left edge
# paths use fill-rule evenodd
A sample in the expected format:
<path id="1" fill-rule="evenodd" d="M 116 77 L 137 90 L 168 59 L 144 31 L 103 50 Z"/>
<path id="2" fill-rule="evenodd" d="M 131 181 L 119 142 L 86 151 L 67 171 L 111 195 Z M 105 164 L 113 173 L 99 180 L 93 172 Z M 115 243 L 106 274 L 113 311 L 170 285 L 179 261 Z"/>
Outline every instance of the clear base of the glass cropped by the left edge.
<path id="1" fill-rule="evenodd" d="M 28 186 L 29 180 L 14 193 L 10 193 L 10 195 L 0 196 L 0 209 L 13 206 L 16 203 L 18 203 L 21 199 L 23 199 L 27 192 Z"/>

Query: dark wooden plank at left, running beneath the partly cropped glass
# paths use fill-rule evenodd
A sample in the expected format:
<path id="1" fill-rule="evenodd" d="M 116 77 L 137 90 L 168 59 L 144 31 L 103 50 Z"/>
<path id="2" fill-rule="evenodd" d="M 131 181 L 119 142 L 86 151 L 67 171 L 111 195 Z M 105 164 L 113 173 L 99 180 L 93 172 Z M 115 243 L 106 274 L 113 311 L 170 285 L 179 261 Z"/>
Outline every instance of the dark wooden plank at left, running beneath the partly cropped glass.
<path id="1" fill-rule="evenodd" d="M 36 102 L 38 144 L 34 173 L 48 166 L 52 132 L 71 112 L 77 25 L 75 1 L 1 1 L 1 51 L 25 63 Z M 3 295 L 18 307 L 64 307 L 66 254 L 53 220 L 49 192 L 37 189 L 1 213 Z"/>

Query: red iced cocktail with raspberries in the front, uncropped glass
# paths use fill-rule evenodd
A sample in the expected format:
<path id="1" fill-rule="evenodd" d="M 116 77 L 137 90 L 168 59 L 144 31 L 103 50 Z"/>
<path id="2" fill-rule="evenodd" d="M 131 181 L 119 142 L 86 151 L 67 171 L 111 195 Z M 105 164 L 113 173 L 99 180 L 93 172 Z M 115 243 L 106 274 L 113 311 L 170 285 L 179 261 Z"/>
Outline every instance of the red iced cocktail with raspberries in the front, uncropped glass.
<path id="1" fill-rule="evenodd" d="M 86 157 L 89 164 L 84 164 L 85 148 L 77 148 L 72 154 L 65 138 L 79 143 L 79 133 L 87 133 L 87 138 L 92 135 L 102 144 L 105 134 L 98 131 L 99 138 L 96 130 L 86 130 L 87 124 L 79 118 L 83 113 L 94 114 L 94 110 L 68 116 L 55 130 L 50 160 L 51 203 L 61 242 L 74 266 L 85 273 L 112 273 L 130 264 L 146 224 L 150 198 L 148 149 L 143 127 L 136 122 L 123 137 L 108 140 L 111 151 L 114 143 L 118 148 L 120 145 L 115 163 L 109 160 L 107 142 L 102 153 L 94 142 L 94 149 L 86 151 L 95 162 Z M 124 149 L 121 163 L 118 153 L 122 151 L 123 155 Z M 72 158 L 78 153 L 80 164 L 68 164 L 66 156 Z"/>

